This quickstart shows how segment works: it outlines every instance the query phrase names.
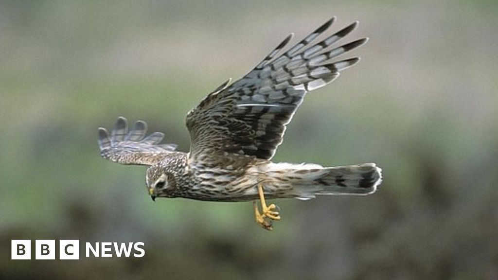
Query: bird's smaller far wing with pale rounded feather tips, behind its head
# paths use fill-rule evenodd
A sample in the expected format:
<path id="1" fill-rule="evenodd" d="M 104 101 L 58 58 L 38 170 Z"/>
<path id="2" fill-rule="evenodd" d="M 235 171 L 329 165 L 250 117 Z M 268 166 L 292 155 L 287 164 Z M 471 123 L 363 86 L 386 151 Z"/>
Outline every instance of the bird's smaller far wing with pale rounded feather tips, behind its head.
<path id="1" fill-rule="evenodd" d="M 125 118 L 119 117 L 111 136 L 99 128 L 99 147 L 102 157 L 122 164 L 153 165 L 176 149 L 176 144 L 159 144 L 164 134 L 154 132 L 145 137 L 147 124 L 137 121 L 128 132 Z"/>

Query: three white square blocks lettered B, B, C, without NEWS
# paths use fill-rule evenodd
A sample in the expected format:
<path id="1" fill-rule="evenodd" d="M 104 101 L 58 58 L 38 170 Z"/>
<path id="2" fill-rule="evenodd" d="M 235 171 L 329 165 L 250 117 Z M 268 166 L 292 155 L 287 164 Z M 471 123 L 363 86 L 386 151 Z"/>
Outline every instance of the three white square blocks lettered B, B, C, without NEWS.
<path id="1" fill-rule="evenodd" d="M 12 260 L 31 260 L 31 240 L 11 241 Z M 35 240 L 36 260 L 55 260 L 55 240 Z M 59 240 L 59 260 L 79 260 L 79 240 Z"/>

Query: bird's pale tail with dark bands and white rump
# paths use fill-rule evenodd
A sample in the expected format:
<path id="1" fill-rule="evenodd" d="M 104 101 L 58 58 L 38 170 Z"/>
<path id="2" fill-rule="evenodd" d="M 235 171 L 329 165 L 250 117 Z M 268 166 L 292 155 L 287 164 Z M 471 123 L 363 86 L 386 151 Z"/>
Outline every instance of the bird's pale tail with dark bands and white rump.
<path id="1" fill-rule="evenodd" d="M 286 195 L 311 199 L 316 195 L 367 195 L 382 182 L 374 163 L 323 167 L 318 164 L 272 163 L 268 175 L 276 185 L 288 186 Z M 272 174 L 274 171 L 278 174 Z"/>

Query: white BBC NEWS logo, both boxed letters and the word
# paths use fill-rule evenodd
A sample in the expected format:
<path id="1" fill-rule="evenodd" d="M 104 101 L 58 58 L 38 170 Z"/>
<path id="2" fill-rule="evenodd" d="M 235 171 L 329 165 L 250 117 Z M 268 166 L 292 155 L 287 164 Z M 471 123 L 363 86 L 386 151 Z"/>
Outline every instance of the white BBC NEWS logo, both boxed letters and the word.
<path id="1" fill-rule="evenodd" d="M 91 242 L 85 243 L 85 257 L 126 257 L 141 258 L 145 256 L 143 242 Z M 35 240 L 35 260 L 55 260 L 55 240 Z M 133 253 L 133 254 L 132 254 Z M 12 260 L 31 260 L 31 240 L 11 241 Z M 59 240 L 59 260 L 79 260 L 79 240 Z"/>

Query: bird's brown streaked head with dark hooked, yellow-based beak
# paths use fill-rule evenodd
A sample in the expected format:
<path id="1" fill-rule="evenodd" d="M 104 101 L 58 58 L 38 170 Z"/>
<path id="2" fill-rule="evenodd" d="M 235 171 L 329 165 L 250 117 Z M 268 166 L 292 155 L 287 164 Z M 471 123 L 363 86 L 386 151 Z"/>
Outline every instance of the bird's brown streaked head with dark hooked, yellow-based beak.
<path id="1" fill-rule="evenodd" d="M 167 172 L 164 168 L 149 167 L 145 181 L 152 200 L 155 201 L 156 197 L 172 197 L 175 187 L 174 175 Z"/>

